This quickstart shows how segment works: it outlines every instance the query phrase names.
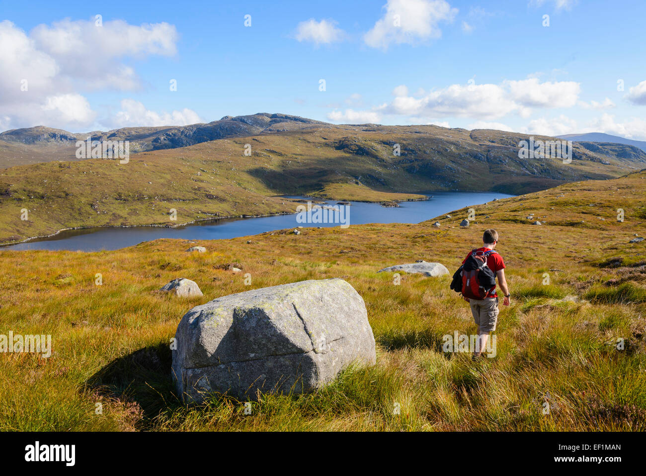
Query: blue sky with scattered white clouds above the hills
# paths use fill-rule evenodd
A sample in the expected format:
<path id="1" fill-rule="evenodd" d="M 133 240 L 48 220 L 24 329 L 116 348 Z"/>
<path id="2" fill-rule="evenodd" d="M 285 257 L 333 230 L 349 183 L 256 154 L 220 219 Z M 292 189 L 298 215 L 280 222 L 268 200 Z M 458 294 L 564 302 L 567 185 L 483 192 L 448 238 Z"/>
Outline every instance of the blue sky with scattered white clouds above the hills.
<path id="1" fill-rule="evenodd" d="M 0 129 L 280 112 L 643 140 L 644 18 L 638 0 L 2 1 Z"/>

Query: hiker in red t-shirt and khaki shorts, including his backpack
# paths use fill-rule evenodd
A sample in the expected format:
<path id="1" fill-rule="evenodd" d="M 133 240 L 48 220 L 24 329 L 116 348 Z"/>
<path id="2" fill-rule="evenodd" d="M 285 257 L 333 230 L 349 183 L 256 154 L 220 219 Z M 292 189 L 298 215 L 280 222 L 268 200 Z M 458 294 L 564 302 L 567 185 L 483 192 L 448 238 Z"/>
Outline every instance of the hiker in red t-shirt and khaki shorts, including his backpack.
<path id="1" fill-rule="evenodd" d="M 495 292 L 496 277 L 505 296 L 503 305 L 509 305 L 510 294 L 505 279 L 505 262 L 503 257 L 494 251 L 497 243 L 498 233 L 492 229 L 485 230 L 483 234 L 483 244 L 485 246 L 470 252 L 464 258 L 463 266 L 458 270 L 458 272 L 461 272 L 463 299 L 471 305 L 471 312 L 478 327 L 478 336 L 475 340 L 474 355 L 472 356 L 473 360 L 479 358 L 485 351 L 489 334 L 495 330 L 495 325 L 498 321 L 498 295 Z M 470 257 L 474 257 L 476 261 L 472 261 L 472 263 L 465 266 Z M 488 272 L 486 268 L 489 268 L 492 272 Z"/>

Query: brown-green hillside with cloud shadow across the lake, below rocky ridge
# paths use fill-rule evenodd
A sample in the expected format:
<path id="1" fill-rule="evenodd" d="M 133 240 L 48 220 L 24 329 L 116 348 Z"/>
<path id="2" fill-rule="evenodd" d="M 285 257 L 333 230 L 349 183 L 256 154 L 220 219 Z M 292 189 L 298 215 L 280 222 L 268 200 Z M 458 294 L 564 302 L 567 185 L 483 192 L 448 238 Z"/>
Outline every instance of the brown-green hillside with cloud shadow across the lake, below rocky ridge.
<path id="1" fill-rule="evenodd" d="M 523 193 L 617 177 L 640 162 L 594 155 L 521 160 L 518 135 L 436 126 L 328 125 L 222 139 L 116 160 L 49 162 L 0 171 L 0 243 L 63 228 L 180 224 L 214 216 L 295 211 L 275 195 L 401 200 L 433 189 Z M 401 144 L 393 156 L 392 144 Z M 243 155 L 251 144 L 252 155 Z M 646 161 L 646 155 L 644 160 Z M 602 162 L 607 162 L 603 164 Z M 21 210 L 29 210 L 28 221 Z M 169 210 L 177 210 L 176 222 Z"/>

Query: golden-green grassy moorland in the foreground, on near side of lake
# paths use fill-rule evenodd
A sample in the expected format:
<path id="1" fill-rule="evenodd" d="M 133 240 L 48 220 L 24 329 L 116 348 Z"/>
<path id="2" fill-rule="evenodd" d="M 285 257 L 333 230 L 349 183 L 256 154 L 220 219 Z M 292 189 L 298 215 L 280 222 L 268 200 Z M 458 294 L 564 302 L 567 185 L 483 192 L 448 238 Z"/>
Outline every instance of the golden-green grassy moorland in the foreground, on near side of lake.
<path id="1" fill-rule="evenodd" d="M 54 354 L 0 356 L 0 429 L 643 431 L 646 243 L 628 242 L 646 233 L 645 192 L 643 171 L 474 204 L 466 229 L 457 226 L 465 209 L 440 219 L 441 228 L 433 219 L 284 230 L 251 243 L 202 241 L 205 254 L 169 239 L 89 254 L 2 251 L 0 333 L 52 334 Z M 616 221 L 617 208 L 625 222 Z M 528 213 L 547 224 L 530 225 Z M 444 334 L 475 332 L 449 276 L 404 274 L 395 286 L 377 270 L 415 259 L 453 270 L 488 227 L 501 233 L 516 299 L 501 310 L 496 358 L 472 363 L 441 352 Z M 222 269 L 228 263 L 243 272 Z M 181 301 L 156 291 L 176 277 L 196 281 L 204 296 Z M 187 310 L 249 288 L 328 277 L 346 279 L 364 298 L 375 367 L 346 371 L 311 395 L 267 396 L 252 415 L 225 397 L 194 409 L 177 401 L 169 340 Z M 617 338 L 625 350 L 608 345 Z M 546 398 L 557 405 L 550 415 Z M 395 402 L 401 415 L 393 415 Z"/>

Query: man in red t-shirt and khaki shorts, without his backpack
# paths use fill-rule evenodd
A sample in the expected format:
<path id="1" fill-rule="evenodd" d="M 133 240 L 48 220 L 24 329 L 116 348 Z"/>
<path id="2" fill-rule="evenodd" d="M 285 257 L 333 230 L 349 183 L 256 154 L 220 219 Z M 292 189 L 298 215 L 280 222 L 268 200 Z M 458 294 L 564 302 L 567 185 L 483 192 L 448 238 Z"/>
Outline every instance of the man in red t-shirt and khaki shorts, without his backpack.
<path id="1" fill-rule="evenodd" d="M 508 306 L 510 294 L 509 288 L 507 287 L 507 280 L 505 279 L 505 261 L 503 261 L 501 255 L 494 251 L 497 243 L 498 233 L 492 229 L 485 230 L 483 235 L 483 244 L 485 246 L 470 252 L 462 263 L 464 265 L 472 254 L 486 257 L 486 265 L 494 272 L 494 276 L 498 278 L 498 285 L 505 296 L 503 305 Z M 472 356 L 472 359 L 476 360 L 485 350 L 489 334 L 495 330 L 495 325 L 498 321 L 498 295 L 495 292 L 495 281 L 494 286 L 486 292 L 483 299 L 469 299 L 468 297 L 464 297 L 464 301 L 471 305 L 475 325 L 478 327 L 478 336 L 475 340 L 474 355 Z"/>

